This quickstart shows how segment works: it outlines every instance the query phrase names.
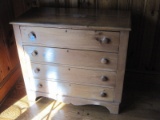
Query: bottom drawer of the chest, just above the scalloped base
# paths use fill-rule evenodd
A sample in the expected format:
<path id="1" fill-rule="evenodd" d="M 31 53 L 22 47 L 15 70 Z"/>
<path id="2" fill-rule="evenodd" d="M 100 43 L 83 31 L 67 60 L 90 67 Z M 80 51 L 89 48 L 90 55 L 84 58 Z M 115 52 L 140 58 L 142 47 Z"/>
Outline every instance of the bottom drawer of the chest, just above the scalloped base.
<path id="1" fill-rule="evenodd" d="M 85 99 L 113 101 L 114 89 L 107 87 L 84 86 L 65 82 L 32 80 L 31 89 L 38 92 L 71 96 Z"/>

